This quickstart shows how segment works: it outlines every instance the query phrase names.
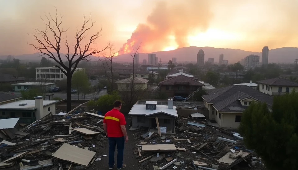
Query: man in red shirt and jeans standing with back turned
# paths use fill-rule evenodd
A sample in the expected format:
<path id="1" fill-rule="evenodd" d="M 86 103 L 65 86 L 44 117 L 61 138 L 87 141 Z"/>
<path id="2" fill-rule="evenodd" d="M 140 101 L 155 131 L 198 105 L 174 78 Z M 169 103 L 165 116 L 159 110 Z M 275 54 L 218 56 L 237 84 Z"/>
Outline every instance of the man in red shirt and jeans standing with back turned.
<path id="1" fill-rule="evenodd" d="M 128 141 L 128 136 L 125 128 L 125 118 L 120 112 L 122 103 L 120 101 L 114 102 L 114 109 L 106 112 L 103 119 L 103 129 L 105 129 L 106 136 L 109 138 L 109 167 L 114 168 L 114 154 L 117 145 L 117 169 L 125 168 L 123 164 L 124 143 Z"/>

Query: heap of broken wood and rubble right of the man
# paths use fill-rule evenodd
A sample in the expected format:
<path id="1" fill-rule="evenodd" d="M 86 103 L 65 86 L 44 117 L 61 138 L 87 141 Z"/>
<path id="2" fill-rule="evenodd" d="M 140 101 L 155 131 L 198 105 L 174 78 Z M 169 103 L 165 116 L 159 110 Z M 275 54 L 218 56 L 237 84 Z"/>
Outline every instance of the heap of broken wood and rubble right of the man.
<path id="1" fill-rule="evenodd" d="M 239 133 L 206 124 L 196 118 L 178 118 L 176 134 L 138 130 L 133 150 L 143 168 L 158 169 L 237 169 L 264 166 L 253 161 L 255 153 L 245 148 Z M 254 157 L 255 158 L 255 157 Z"/>

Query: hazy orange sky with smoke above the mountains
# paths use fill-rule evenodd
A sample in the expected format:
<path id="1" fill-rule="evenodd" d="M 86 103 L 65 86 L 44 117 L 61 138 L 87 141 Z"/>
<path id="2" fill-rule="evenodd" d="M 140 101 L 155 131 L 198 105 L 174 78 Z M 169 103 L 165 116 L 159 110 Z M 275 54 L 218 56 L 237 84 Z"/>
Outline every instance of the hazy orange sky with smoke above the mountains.
<path id="1" fill-rule="evenodd" d="M 109 41 L 116 50 L 125 50 L 127 43 L 125 51 L 131 42 L 142 42 L 140 52 L 298 47 L 297 0 L 0 0 L 0 55 L 35 53 L 28 34 L 44 29 L 40 17 L 54 15 L 55 7 L 68 39 L 91 12 L 96 23 L 88 35 L 103 27 L 98 49 Z"/>

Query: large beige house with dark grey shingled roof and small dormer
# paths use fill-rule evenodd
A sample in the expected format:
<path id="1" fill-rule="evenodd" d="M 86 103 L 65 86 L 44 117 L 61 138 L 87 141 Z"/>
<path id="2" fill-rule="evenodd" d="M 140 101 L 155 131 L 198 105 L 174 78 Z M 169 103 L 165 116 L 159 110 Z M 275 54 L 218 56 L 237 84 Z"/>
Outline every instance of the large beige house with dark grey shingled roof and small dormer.
<path id="1" fill-rule="evenodd" d="M 237 129 L 243 111 L 253 101 L 265 102 L 271 108 L 273 97 L 244 85 L 229 85 L 206 91 L 202 98 L 209 110 L 209 119 L 220 127 Z"/>

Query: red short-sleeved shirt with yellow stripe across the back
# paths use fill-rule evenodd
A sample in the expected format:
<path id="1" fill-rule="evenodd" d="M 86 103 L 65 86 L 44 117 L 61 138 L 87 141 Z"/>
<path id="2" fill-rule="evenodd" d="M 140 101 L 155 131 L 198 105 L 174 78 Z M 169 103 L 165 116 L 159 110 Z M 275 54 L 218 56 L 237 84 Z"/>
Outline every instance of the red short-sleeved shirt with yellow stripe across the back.
<path id="1" fill-rule="evenodd" d="M 108 137 L 123 137 L 124 134 L 120 125 L 125 125 L 124 115 L 118 109 L 112 109 L 106 112 L 103 123 L 106 123 Z"/>

